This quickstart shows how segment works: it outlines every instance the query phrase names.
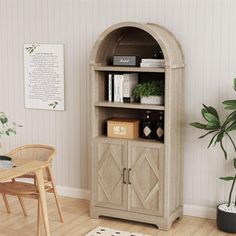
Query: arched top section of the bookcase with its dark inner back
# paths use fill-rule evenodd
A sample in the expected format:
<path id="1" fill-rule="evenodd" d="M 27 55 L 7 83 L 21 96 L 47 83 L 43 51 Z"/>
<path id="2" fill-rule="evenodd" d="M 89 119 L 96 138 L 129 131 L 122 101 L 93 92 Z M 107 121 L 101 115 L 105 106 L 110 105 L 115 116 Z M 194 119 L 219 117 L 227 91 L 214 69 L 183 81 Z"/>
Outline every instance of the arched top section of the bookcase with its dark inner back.
<path id="1" fill-rule="evenodd" d="M 170 31 L 154 23 L 121 22 L 99 36 L 90 64 L 111 65 L 113 55 L 150 58 L 156 49 L 162 51 L 166 68 L 184 67 L 182 48 Z"/>

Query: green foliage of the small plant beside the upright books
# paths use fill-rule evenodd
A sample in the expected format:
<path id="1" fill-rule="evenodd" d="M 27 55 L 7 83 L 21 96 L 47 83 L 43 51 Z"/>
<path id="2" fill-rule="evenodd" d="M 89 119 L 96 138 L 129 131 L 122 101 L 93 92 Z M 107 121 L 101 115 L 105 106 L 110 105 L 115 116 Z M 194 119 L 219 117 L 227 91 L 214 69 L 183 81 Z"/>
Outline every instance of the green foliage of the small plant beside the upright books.
<path id="1" fill-rule="evenodd" d="M 138 84 L 133 90 L 135 98 L 149 96 L 163 96 L 165 90 L 164 80 L 148 81 Z"/>

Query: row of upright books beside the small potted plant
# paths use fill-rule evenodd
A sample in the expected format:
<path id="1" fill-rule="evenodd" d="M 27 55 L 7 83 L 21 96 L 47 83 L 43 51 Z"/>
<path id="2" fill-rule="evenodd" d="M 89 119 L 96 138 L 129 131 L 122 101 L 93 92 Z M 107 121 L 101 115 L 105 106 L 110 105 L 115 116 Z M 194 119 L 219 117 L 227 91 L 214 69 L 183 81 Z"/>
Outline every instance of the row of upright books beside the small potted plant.
<path id="1" fill-rule="evenodd" d="M 108 74 L 108 101 L 133 102 L 132 92 L 138 84 L 138 73 Z"/>

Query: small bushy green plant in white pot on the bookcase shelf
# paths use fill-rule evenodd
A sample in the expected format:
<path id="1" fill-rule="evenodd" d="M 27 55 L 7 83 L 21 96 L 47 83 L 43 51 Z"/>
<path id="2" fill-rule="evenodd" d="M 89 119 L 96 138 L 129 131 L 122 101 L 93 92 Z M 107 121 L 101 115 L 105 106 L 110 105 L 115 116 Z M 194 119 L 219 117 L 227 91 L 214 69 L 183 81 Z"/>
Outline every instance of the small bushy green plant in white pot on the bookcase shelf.
<path id="1" fill-rule="evenodd" d="M 164 80 L 147 81 L 136 85 L 133 90 L 134 98 L 140 98 L 144 104 L 164 104 Z"/>

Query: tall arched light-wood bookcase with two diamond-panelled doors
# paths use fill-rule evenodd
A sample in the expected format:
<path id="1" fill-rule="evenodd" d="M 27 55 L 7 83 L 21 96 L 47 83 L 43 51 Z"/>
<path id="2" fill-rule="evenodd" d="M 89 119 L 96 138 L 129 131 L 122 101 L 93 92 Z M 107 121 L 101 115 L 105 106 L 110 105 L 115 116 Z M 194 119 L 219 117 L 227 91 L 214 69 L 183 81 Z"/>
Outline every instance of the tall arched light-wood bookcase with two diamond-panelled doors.
<path id="1" fill-rule="evenodd" d="M 113 55 L 151 58 L 160 48 L 165 68 L 112 66 Z M 181 110 L 184 59 L 175 37 L 162 26 L 119 23 L 98 38 L 91 54 L 92 137 L 90 158 L 90 216 L 141 221 L 168 230 L 182 217 Z M 165 80 L 163 106 L 115 103 L 105 99 L 109 73 L 137 72 L 142 80 Z M 111 117 L 139 118 L 145 110 L 155 117 L 164 111 L 164 143 L 106 136 Z"/>

